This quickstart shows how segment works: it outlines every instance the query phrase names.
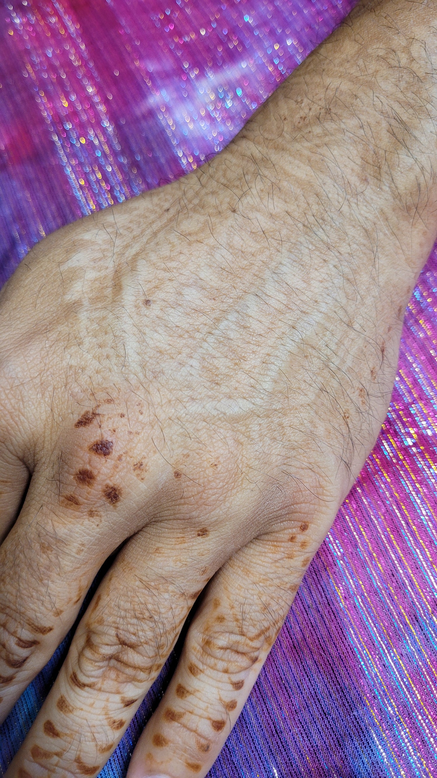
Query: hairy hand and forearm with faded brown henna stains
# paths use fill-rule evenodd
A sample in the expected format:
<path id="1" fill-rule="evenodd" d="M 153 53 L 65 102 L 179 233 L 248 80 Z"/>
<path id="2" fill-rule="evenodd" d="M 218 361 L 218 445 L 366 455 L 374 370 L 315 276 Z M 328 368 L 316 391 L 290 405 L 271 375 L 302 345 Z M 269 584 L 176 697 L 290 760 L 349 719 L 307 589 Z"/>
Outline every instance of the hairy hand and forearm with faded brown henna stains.
<path id="1" fill-rule="evenodd" d="M 436 19 L 362 2 L 211 163 L 2 290 L 2 717 L 124 544 L 7 778 L 99 773 L 198 598 L 128 778 L 215 761 L 390 402 L 437 236 Z"/>

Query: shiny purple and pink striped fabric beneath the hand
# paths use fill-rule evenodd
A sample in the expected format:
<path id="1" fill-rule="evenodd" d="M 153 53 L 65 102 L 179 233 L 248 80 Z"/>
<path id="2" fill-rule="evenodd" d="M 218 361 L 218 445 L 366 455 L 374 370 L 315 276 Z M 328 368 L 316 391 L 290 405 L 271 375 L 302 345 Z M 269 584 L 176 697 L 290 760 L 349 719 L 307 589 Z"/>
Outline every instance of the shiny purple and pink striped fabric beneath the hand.
<path id="1" fill-rule="evenodd" d="M 218 152 L 351 0 L 0 0 L 0 258 Z M 214 778 L 437 776 L 437 254 L 390 412 Z M 5 769 L 68 640 L 0 729 Z M 121 778 L 172 668 L 101 776 Z"/>

